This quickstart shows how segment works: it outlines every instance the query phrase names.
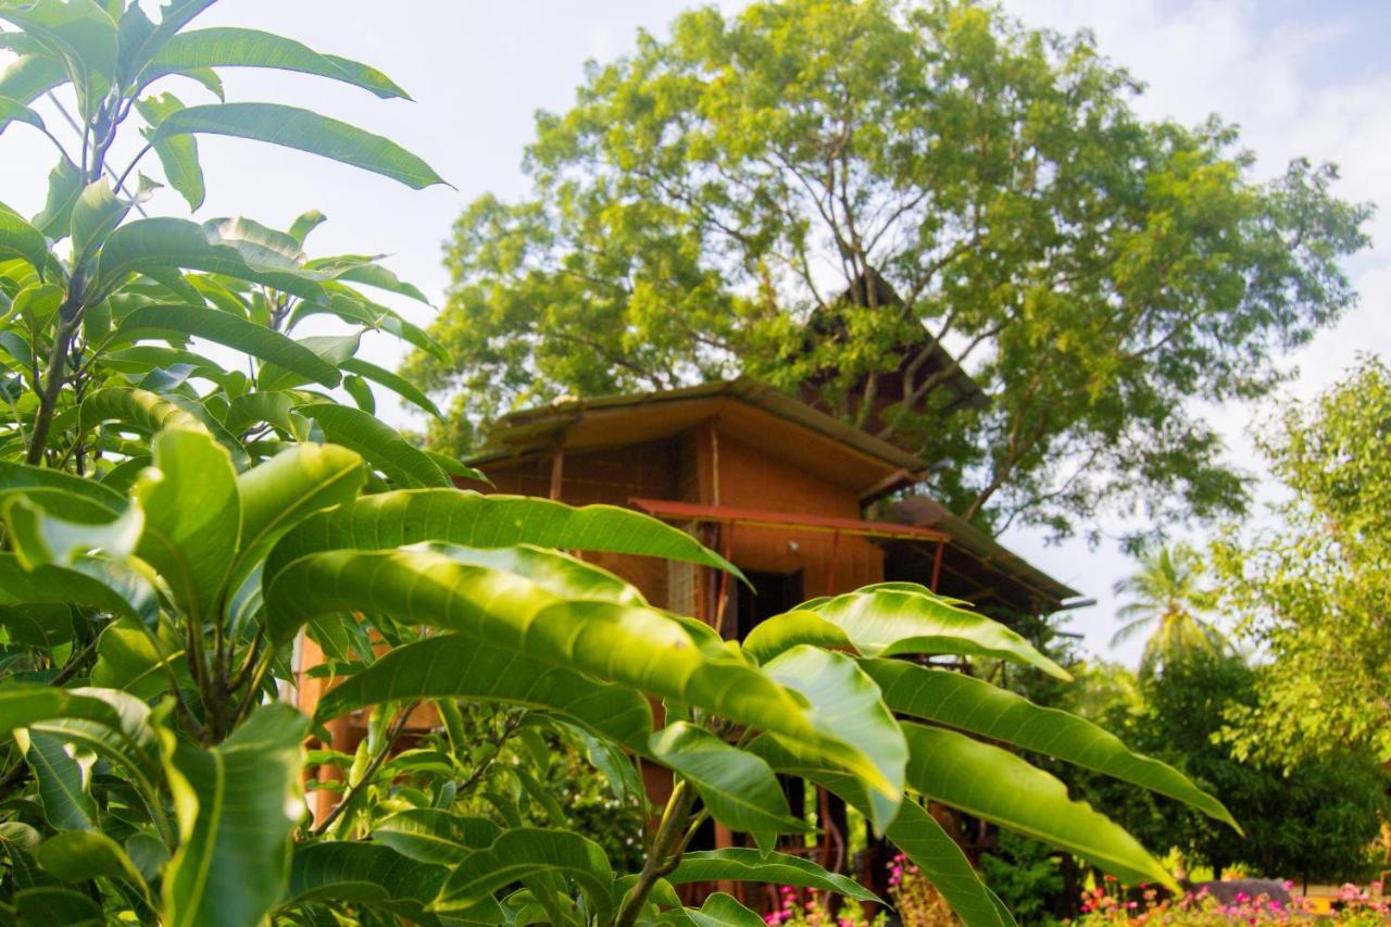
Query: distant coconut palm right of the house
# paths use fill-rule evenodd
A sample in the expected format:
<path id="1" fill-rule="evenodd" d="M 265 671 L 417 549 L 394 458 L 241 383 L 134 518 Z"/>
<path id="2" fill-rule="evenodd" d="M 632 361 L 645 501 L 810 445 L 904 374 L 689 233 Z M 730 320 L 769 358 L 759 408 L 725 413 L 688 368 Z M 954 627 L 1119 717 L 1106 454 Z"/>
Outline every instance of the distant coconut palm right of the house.
<path id="1" fill-rule="evenodd" d="M 1200 617 L 1209 593 L 1199 586 L 1196 561 L 1189 547 L 1160 547 L 1141 558 L 1138 572 L 1116 583 L 1116 594 L 1129 596 L 1129 601 L 1116 611 L 1125 624 L 1111 637 L 1111 647 L 1149 635 L 1141 676 L 1185 654 L 1220 653 L 1230 646 L 1221 631 Z"/>

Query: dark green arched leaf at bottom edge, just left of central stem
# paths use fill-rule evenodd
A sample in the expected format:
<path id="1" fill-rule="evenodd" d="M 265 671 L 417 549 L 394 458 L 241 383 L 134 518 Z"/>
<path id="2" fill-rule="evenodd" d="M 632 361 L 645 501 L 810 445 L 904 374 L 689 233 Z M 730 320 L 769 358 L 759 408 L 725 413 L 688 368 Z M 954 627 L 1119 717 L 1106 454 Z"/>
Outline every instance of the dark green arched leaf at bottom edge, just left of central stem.
<path id="1" fill-rule="evenodd" d="M 467 910 L 522 878 L 555 873 L 584 892 L 590 910 L 606 923 L 613 908 L 613 870 L 598 843 L 572 831 L 520 827 L 504 831 L 488 849 L 466 856 L 445 881 L 433 910 Z"/>

